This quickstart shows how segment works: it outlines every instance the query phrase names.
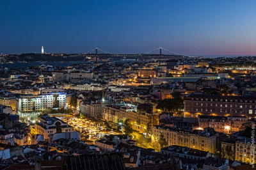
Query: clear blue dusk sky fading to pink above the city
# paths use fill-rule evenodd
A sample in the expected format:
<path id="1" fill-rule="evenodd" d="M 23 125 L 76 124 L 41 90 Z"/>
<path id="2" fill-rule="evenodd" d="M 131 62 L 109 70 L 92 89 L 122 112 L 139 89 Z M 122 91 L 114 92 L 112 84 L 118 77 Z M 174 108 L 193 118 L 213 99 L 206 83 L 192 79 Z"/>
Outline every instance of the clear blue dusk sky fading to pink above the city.
<path id="1" fill-rule="evenodd" d="M 256 1 L 0 1 L 0 54 L 256 55 Z"/>

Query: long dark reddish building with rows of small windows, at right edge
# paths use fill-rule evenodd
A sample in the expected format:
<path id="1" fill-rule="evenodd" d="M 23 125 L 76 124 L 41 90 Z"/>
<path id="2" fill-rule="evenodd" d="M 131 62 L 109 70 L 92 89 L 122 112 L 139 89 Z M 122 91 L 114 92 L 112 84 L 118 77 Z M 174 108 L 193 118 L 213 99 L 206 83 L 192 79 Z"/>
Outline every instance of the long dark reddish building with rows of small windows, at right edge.
<path id="1" fill-rule="evenodd" d="M 189 112 L 192 116 L 232 114 L 233 116 L 244 115 L 253 118 L 256 114 L 256 98 L 194 93 L 184 98 L 184 112 Z"/>

